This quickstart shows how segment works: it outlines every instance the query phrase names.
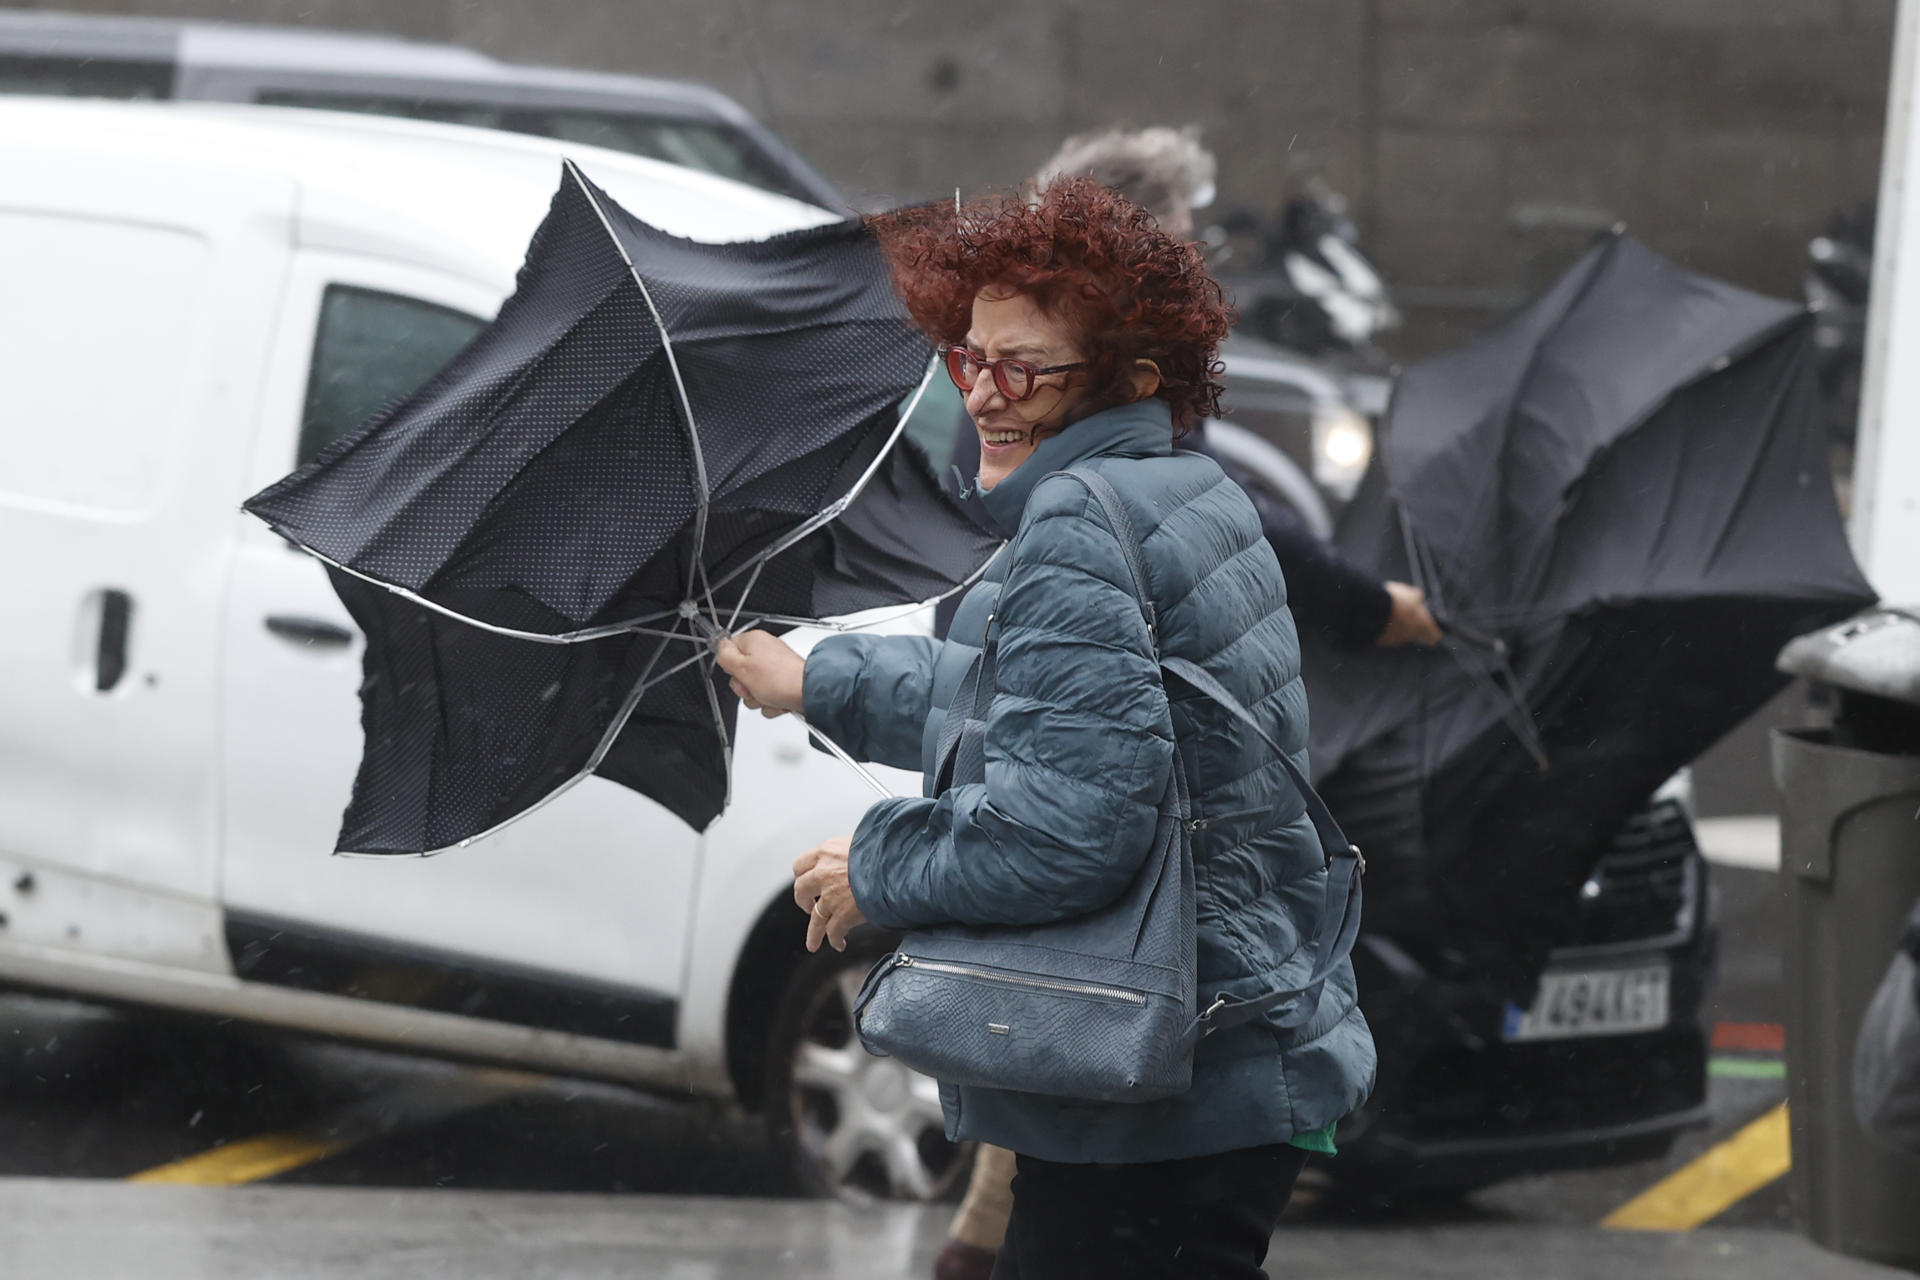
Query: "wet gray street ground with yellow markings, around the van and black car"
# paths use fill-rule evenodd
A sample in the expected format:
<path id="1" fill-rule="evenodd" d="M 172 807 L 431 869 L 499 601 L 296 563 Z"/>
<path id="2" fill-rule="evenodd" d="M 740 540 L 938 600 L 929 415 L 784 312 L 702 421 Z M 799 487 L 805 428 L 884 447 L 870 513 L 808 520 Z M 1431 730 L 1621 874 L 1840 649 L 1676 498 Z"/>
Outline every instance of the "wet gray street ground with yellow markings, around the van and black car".
<path id="1" fill-rule="evenodd" d="M 1776 1025 L 1774 875 L 1716 883 L 1715 1021 Z M 1421 1205 L 1334 1201 L 1309 1171 L 1273 1272 L 1893 1274 L 1793 1234 L 1780 1180 L 1693 1232 L 1597 1228 L 1784 1100 L 1764 1034 L 1728 1044 L 1711 1126 L 1665 1161 Z M 947 1222 L 797 1199 L 758 1128 L 710 1105 L 31 996 L 0 998 L 0 1274 L 21 1278 L 924 1276 Z"/>

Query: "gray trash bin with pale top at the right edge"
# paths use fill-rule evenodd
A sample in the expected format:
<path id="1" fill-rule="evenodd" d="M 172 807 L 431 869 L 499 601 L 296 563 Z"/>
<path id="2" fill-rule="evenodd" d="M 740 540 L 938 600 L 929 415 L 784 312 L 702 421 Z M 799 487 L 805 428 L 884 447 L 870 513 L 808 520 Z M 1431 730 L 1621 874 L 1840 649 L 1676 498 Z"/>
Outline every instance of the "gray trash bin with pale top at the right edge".
<path id="1" fill-rule="evenodd" d="M 1774 733 L 1788 894 L 1789 1176 L 1814 1242 L 1920 1268 L 1920 1159 L 1853 1119 L 1853 1046 L 1920 898 L 1920 610 L 1803 635 L 1780 670 L 1824 687 L 1832 725 Z"/>

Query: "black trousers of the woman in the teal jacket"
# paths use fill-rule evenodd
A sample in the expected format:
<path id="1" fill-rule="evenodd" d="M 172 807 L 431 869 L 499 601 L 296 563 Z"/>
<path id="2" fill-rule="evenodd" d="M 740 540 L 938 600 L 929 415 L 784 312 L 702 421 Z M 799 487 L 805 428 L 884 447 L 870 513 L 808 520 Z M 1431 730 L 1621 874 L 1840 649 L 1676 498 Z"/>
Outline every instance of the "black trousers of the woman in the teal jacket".
<path id="1" fill-rule="evenodd" d="M 1021 1155 L 993 1280 L 1263 1280 L 1306 1159 L 1292 1146 L 1158 1165 Z"/>

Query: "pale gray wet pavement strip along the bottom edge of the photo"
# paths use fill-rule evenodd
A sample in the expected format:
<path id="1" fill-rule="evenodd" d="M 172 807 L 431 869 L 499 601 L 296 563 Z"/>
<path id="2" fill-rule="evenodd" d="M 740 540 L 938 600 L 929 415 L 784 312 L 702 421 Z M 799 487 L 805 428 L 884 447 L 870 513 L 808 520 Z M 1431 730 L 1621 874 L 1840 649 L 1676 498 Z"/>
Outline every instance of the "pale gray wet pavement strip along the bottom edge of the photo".
<path id="1" fill-rule="evenodd" d="M 947 1207 L 0 1180 L 8 1280 L 922 1280 Z M 1284 1280 L 1895 1280 L 1774 1230 L 1288 1226 Z"/>

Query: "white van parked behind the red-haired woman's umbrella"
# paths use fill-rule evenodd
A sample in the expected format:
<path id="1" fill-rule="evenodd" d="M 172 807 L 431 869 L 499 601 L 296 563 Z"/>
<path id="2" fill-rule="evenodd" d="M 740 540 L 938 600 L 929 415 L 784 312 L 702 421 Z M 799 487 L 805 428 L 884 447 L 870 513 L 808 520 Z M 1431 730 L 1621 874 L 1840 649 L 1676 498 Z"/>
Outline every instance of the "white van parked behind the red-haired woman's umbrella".
<path id="1" fill-rule="evenodd" d="M 864 958 L 801 946 L 791 862 L 870 793 L 797 725 L 743 718 L 705 835 L 595 779 L 328 856 L 359 637 L 238 505 L 493 315 L 563 155 L 701 240 L 833 217 L 503 132 L 0 100 L 0 983 L 733 1098 L 814 1190 L 939 1196 L 933 1082 L 852 1048 Z"/>

